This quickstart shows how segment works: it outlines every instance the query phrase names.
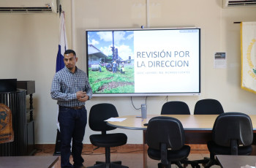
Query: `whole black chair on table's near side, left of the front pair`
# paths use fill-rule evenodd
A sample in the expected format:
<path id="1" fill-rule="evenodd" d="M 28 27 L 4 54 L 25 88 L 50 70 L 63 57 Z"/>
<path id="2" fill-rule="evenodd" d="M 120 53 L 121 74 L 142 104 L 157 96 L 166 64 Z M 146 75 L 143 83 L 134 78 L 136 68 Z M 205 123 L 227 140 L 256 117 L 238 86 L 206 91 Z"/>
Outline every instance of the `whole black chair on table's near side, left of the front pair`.
<path id="1" fill-rule="evenodd" d="M 170 164 L 175 162 L 182 168 L 180 161 L 186 159 L 190 152 L 190 147 L 184 145 L 184 142 L 184 129 L 178 119 L 159 116 L 148 121 L 148 156 L 154 160 L 161 160 L 158 167 L 170 168 Z"/>

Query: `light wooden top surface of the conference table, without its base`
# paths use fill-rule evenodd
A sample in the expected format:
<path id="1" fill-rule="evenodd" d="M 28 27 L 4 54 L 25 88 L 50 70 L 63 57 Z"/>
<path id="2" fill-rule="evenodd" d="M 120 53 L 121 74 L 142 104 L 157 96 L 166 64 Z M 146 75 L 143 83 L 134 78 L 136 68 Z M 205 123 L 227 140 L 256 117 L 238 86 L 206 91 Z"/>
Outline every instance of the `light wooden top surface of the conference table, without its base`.
<path id="1" fill-rule="evenodd" d="M 110 126 L 115 126 L 121 129 L 137 129 L 146 130 L 144 123 L 156 116 L 169 116 L 177 118 L 181 121 L 184 130 L 186 131 L 211 131 L 214 126 L 214 121 L 218 115 L 147 115 L 146 119 L 138 118 L 136 115 L 125 115 L 118 118 L 127 118 L 124 121 L 108 121 Z M 252 127 L 256 131 L 256 115 L 249 115 L 252 120 Z"/>

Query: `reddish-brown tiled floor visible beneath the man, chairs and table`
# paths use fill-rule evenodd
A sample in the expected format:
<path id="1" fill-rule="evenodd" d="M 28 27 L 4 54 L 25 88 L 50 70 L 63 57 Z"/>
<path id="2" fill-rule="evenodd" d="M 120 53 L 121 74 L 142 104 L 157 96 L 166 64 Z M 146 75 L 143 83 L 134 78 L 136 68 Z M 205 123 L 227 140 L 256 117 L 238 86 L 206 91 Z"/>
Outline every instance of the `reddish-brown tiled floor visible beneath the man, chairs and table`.
<path id="1" fill-rule="evenodd" d="M 53 155 L 54 148 L 48 148 L 43 150 L 38 150 L 35 153 L 35 156 L 39 155 Z M 105 161 L 105 152 L 104 149 L 100 148 L 98 150 L 91 150 L 91 149 L 83 149 L 83 159 L 85 160 L 84 166 L 89 167 L 94 165 L 95 161 Z M 122 164 L 129 167 L 129 168 L 143 168 L 143 150 L 141 149 L 132 149 L 126 151 L 118 151 L 116 149 L 111 149 L 110 154 L 111 161 L 122 161 Z M 206 150 L 191 150 L 189 154 L 189 160 L 197 160 L 203 159 L 203 157 L 208 157 L 208 151 Z M 70 162 L 72 163 L 72 156 L 70 157 Z M 148 168 L 157 168 L 157 164 L 159 161 L 154 161 L 150 158 L 147 159 Z M 176 167 L 172 165 L 172 168 Z M 188 168 L 191 167 L 190 165 Z M 203 167 L 200 165 L 200 167 Z M 219 168 L 219 166 L 213 166 L 211 168 Z M 60 158 L 59 161 L 56 162 L 54 168 L 61 168 Z"/>

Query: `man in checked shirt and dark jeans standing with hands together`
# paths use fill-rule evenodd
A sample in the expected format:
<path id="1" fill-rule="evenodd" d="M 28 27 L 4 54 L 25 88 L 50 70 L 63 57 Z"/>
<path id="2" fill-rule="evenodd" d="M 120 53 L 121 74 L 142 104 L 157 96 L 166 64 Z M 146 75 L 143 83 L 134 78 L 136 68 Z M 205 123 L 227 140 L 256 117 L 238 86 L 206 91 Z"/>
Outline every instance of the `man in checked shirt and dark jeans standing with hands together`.
<path id="1" fill-rule="evenodd" d="M 50 91 L 52 99 L 56 99 L 59 104 L 61 168 L 80 168 L 84 161 L 81 153 L 87 123 L 85 102 L 91 99 L 92 91 L 86 72 L 75 66 L 77 61 L 74 50 L 65 51 L 65 67 L 56 72 Z M 69 162 L 71 140 L 74 165 Z"/>

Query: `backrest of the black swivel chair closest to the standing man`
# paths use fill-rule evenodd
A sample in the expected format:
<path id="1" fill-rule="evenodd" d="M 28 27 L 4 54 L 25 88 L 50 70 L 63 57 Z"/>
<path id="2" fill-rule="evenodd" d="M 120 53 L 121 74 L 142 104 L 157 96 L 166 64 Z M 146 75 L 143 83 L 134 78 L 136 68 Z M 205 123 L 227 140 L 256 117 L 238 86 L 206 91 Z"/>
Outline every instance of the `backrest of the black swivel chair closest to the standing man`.
<path id="1" fill-rule="evenodd" d="M 89 126 L 93 131 L 110 131 L 116 128 L 108 126 L 105 120 L 116 117 L 118 117 L 118 112 L 113 104 L 95 104 L 90 110 Z"/>

